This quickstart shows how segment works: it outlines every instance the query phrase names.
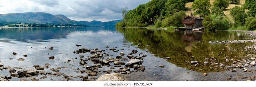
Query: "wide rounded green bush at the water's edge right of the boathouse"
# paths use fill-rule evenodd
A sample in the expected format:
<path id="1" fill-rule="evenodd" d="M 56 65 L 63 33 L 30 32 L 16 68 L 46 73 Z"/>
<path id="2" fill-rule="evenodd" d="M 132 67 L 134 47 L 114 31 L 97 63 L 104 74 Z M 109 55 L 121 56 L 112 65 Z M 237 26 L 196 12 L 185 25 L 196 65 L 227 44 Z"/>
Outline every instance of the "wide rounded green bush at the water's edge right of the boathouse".
<path id="1" fill-rule="evenodd" d="M 206 30 L 227 30 L 229 27 L 228 18 L 216 14 L 206 16 L 202 23 Z"/>

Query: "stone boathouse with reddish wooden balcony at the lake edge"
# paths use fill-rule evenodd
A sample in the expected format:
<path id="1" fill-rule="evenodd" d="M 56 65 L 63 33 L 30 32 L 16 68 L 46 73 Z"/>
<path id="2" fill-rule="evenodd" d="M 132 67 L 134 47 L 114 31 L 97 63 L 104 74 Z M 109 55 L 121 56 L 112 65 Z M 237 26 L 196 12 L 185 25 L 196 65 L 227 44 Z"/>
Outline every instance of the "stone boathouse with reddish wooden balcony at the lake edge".
<path id="1" fill-rule="evenodd" d="M 192 29 L 203 26 L 202 21 L 203 19 L 201 17 L 186 16 L 183 18 L 182 24 L 184 24 L 186 30 L 192 30 Z"/>

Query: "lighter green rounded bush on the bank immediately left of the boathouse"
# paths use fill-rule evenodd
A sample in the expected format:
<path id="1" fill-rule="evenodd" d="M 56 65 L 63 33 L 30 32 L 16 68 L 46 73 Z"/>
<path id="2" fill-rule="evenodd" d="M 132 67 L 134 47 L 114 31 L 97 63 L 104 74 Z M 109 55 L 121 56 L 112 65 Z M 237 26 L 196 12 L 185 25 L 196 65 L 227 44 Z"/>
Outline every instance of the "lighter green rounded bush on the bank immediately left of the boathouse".
<path id="1" fill-rule="evenodd" d="M 174 13 L 174 15 L 167 17 L 165 20 L 162 22 L 162 27 L 167 27 L 167 26 L 184 26 L 182 24 L 182 18 L 186 16 L 185 11 L 179 11 Z"/>

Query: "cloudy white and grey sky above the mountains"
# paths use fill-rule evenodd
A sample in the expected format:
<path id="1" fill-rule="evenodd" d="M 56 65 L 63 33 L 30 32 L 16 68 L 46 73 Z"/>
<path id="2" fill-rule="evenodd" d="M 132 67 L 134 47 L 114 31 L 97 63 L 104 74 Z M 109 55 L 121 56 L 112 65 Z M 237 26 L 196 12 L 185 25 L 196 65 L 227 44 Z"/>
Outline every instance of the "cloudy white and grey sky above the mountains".
<path id="1" fill-rule="evenodd" d="M 136 8 L 151 0 L 0 0 L 0 14 L 47 12 L 76 21 L 122 19 L 121 9 Z"/>

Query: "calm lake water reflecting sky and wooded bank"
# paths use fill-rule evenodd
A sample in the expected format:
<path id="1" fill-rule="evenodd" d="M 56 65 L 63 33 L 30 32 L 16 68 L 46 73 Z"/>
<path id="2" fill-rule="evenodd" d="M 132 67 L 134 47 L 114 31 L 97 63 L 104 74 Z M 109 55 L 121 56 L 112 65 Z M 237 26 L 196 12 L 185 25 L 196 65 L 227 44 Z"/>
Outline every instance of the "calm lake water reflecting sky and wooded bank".
<path id="1" fill-rule="evenodd" d="M 100 63 L 90 61 L 87 57 L 92 55 L 90 52 L 75 53 L 79 48 L 105 50 L 102 52 L 103 60 L 109 57 L 115 58 L 124 52 L 125 55 L 122 57 L 128 60 L 120 61 L 125 63 L 131 60 L 126 57 L 128 53 L 137 50 L 138 53 L 132 55 L 134 57 L 146 55 L 142 63 L 145 70 L 125 74 L 127 80 L 228 80 L 227 77 L 232 77 L 231 80 L 247 80 L 249 78 L 242 77 L 255 76 L 255 73 L 243 72 L 243 68 L 235 68 L 237 71 L 232 72 L 229 68 L 219 67 L 218 63 L 229 66 L 233 64 L 233 61 L 250 61 L 248 57 L 245 57 L 250 52 L 244 51 L 241 47 L 253 43 L 210 44 L 208 42 L 248 39 L 253 38 L 243 32 L 235 31 L 175 31 L 115 27 L 1 28 L 0 63 L 4 67 L 10 66 L 11 68 L 33 68 L 33 65 L 46 67 L 45 64 L 49 63 L 51 66 L 45 68 L 44 71 L 51 73 L 54 73 L 50 70 L 51 68 L 64 66 L 67 68 L 61 68 L 59 72 L 68 75 L 70 80 L 83 80 L 77 76 L 88 76 L 88 73 L 81 73 L 81 70 L 87 70 L 86 66 Z M 81 44 L 81 46 L 77 47 L 76 44 Z M 49 50 L 49 47 L 53 47 L 53 50 Z M 118 51 L 113 52 L 110 48 Z M 13 52 L 17 55 L 13 55 Z M 23 57 L 24 54 L 27 57 Z M 55 58 L 49 59 L 50 56 Z M 226 61 L 227 57 L 232 59 Z M 23 58 L 24 61 L 18 61 L 19 58 Z M 79 64 L 83 60 L 86 60 L 86 65 Z M 198 61 L 198 64 L 191 64 L 191 61 Z M 208 63 L 204 64 L 205 61 Z M 109 65 L 101 65 L 97 69 L 98 75 L 88 76 L 89 79 L 96 80 L 105 74 L 103 71 L 111 70 L 111 73 L 114 73 L 120 67 L 125 67 L 125 65 L 117 67 L 113 62 Z M 164 67 L 161 68 L 159 65 L 164 65 Z M 131 71 L 134 70 L 133 67 L 129 68 Z M 244 68 L 255 70 L 255 66 L 244 66 Z M 9 69 L 3 69 L 3 67 L 1 69 L 1 76 L 10 75 Z M 204 73 L 207 73 L 207 76 L 204 76 Z M 47 77 L 40 79 L 42 76 Z M 35 78 L 66 80 L 64 76 L 49 73 L 37 75 Z M 21 79 L 28 78 L 12 77 L 9 80 Z"/>

